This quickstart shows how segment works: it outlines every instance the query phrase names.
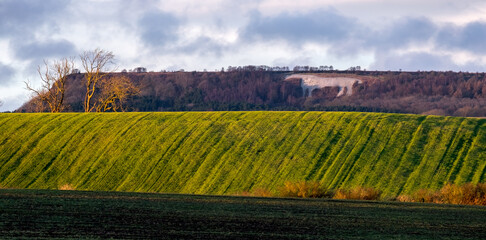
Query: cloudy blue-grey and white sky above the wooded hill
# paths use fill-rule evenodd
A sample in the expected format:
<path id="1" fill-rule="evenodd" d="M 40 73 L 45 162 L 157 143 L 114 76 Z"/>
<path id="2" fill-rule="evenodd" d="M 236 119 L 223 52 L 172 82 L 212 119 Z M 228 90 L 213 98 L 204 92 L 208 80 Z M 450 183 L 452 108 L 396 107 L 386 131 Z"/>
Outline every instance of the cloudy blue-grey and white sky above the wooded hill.
<path id="1" fill-rule="evenodd" d="M 0 0 L 0 112 L 30 98 L 44 60 L 96 48 L 119 70 L 484 72 L 485 40 L 483 0 Z"/>

